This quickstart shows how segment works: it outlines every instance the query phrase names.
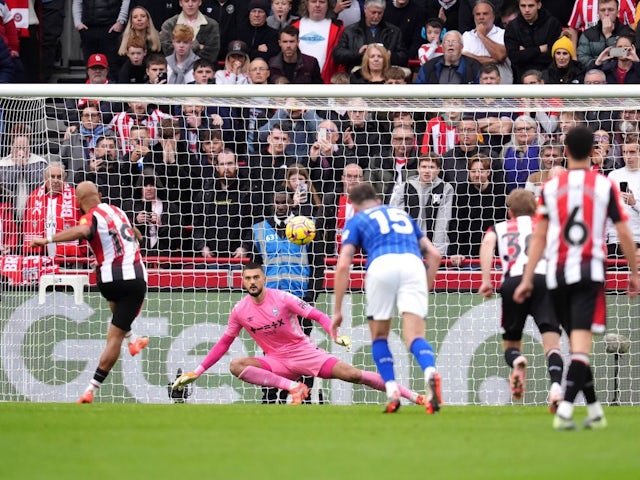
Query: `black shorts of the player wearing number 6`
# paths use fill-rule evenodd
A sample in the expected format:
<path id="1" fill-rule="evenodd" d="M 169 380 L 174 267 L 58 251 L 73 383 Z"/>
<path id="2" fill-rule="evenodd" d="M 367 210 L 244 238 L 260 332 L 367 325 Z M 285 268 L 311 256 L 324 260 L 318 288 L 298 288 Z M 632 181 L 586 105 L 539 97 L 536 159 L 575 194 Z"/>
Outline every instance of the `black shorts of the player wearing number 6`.
<path id="1" fill-rule="evenodd" d="M 562 328 L 604 333 L 607 326 L 607 300 L 604 283 L 590 280 L 551 290 L 551 300 Z"/>

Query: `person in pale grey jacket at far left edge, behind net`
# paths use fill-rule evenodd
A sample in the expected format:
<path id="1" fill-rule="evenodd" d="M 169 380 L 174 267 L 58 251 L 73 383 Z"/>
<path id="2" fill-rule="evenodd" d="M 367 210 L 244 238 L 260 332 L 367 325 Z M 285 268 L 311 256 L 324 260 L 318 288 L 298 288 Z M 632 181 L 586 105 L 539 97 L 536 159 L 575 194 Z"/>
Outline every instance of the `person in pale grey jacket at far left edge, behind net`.
<path id="1" fill-rule="evenodd" d="M 0 185 L 11 194 L 16 220 L 21 221 L 29 193 L 42 183 L 47 161 L 33 153 L 31 127 L 13 126 L 9 155 L 0 159 Z"/>

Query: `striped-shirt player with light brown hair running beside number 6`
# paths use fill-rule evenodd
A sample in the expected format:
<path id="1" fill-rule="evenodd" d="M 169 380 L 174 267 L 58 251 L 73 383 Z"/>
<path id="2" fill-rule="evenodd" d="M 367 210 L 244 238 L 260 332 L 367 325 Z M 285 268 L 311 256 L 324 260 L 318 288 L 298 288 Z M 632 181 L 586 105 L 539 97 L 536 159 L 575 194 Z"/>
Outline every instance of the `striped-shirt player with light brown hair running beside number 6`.
<path id="1" fill-rule="evenodd" d="M 480 267 L 482 284 L 478 294 L 489 298 L 493 295 L 491 267 L 494 251 L 502 263 L 502 340 L 504 358 L 513 370 L 509 378 L 511 395 L 520 400 L 525 390 L 527 359 L 522 354 L 522 331 L 527 316 L 533 316 L 542 337 L 542 345 L 547 358 L 547 369 L 551 379 L 549 409 L 555 413 L 562 400 L 562 370 L 564 364 L 560 354 L 560 326 L 551 304 L 551 297 L 545 284 L 547 263 L 544 259 L 535 268 L 533 294 L 522 304 L 513 301 L 513 291 L 520 283 L 522 273 L 529 258 L 529 239 L 535 229 L 532 216 L 536 212 L 536 199 L 532 192 L 521 188 L 513 190 L 507 197 L 509 220 L 496 223 L 482 239 L 480 246 Z"/>

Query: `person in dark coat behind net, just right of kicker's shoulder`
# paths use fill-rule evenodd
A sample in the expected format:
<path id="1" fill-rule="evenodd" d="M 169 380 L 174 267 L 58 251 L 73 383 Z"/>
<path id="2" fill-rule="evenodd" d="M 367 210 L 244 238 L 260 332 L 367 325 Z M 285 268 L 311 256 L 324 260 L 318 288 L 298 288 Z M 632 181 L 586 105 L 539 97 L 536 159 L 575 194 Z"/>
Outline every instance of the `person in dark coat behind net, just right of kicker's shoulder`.
<path id="1" fill-rule="evenodd" d="M 140 253 L 145 257 L 169 257 L 180 244 L 178 206 L 164 197 L 164 184 L 152 169 L 145 169 L 136 183 L 135 198 L 123 202 L 131 225 L 140 230 Z"/>

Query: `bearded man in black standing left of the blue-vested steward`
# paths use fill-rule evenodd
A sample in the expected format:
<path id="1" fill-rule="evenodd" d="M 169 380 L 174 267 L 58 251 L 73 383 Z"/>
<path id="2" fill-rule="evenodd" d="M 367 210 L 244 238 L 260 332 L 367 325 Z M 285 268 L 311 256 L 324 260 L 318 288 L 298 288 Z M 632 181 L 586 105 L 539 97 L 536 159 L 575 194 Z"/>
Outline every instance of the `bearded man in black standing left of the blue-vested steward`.
<path id="1" fill-rule="evenodd" d="M 251 237 L 252 199 L 249 179 L 238 169 L 235 154 L 225 149 L 204 178 L 194 198 L 194 249 L 204 258 L 246 254 L 243 242 Z"/>

